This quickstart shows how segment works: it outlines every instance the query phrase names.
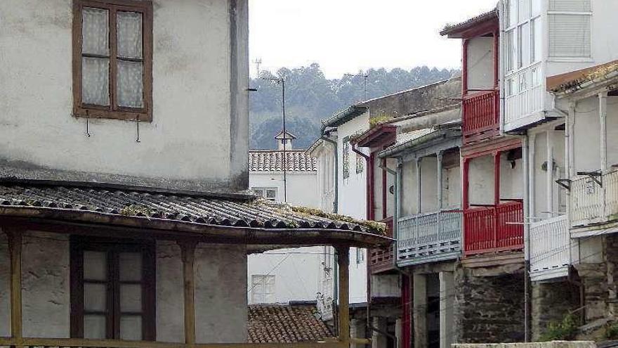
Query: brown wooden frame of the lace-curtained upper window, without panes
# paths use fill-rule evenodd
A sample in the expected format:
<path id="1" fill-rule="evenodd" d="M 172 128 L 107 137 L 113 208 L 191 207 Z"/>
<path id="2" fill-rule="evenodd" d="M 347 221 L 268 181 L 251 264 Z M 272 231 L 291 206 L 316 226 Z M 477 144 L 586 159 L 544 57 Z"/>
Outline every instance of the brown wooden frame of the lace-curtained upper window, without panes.
<path id="1" fill-rule="evenodd" d="M 86 105 L 81 97 L 82 8 L 93 7 L 109 11 L 110 45 L 110 105 Z M 117 106 L 117 11 L 142 13 L 143 108 Z M 143 0 L 73 0 L 73 115 L 116 120 L 152 122 L 152 1 Z M 106 57 L 107 58 L 107 57 Z"/>

